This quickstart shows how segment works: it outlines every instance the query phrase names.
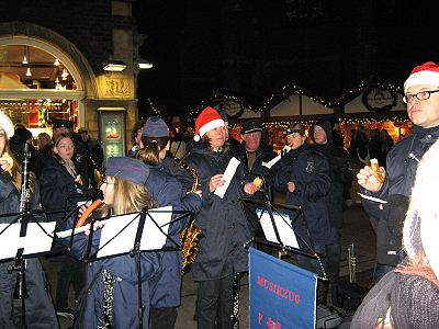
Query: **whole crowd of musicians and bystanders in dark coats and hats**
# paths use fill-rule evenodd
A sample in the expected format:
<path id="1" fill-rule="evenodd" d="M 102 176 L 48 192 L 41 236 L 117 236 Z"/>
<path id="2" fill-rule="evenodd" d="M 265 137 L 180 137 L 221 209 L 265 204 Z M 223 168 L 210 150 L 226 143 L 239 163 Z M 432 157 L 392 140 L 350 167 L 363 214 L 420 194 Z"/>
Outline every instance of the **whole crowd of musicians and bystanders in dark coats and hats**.
<path id="1" fill-rule="evenodd" d="M 170 131 L 157 116 L 139 121 L 128 156 L 109 158 L 105 166 L 102 148 L 88 131 L 74 133 L 71 123 L 63 121 L 55 123 L 52 138 L 38 136 L 37 150 L 31 148 L 31 162 L 24 163 L 24 145 L 31 144 L 32 134 L 14 128 L 0 112 L 2 215 L 20 211 L 24 164 L 31 171 L 31 208 L 45 211 L 35 219 L 55 222 L 56 231 L 72 228 L 86 212 L 85 205 L 66 212 L 69 203 L 75 208 L 80 198 L 103 202 L 87 219 L 85 232 L 69 237 L 68 249 L 67 239 L 54 245 L 49 260 L 59 264 L 55 304 L 40 261 L 26 260 L 33 290 L 26 300 L 27 326 L 58 327 L 56 314 L 72 313 L 68 305 L 72 285 L 79 328 L 134 328 L 140 321 L 144 328 L 173 328 L 181 304 L 182 265 L 182 253 L 173 247 L 180 247 L 183 229 L 194 220 L 202 232 L 191 265 L 199 283 L 194 319 L 198 328 L 233 328 L 234 287 L 248 272 L 245 246 L 257 238 L 256 248 L 274 252 L 273 246 L 263 243 L 257 215 L 274 192 L 285 196 L 286 206 L 302 209 L 300 216 L 294 207 L 286 214 L 300 248 L 318 256 L 296 254 L 301 268 L 324 279 L 317 284 L 317 304 L 337 306 L 346 191 L 353 180 L 352 166 L 363 163 L 357 174 L 361 192 L 383 202 L 363 200 L 376 232 L 375 285 L 351 319 L 351 328 L 438 328 L 439 249 L 432 231 L 438 228 L 439 211 L 430 191 L 438 180 L 434 168 L 439 155 L 438 86 L 439 66 L 434 63 L 416 67 L 405 81 L 404 101 L 414 133 L 395 146 L 385 129 L 368 134 L 359 127 L 346 150 L 334 123 L 324 120 L 308 132 L 303 124 L 292 123 L 284 131 L 285 148 L 278 155 L 266 141 L 261 120 L 246 120 L 244 141 L 237 143 L 229 136 L 225 112 L 207 106 L 196 117 L 190 138 Z M 371 168 L 371 158 L 379 160 L 383 181 Z M 230 167 L 233 174 L 225 175 Z M 95 170 L 104 171 L 102 181 Z M 172 215 L 164 246 L 168 251 L 142 252 L 139 263 L 122 254 L 86 265 L 85 257 L 98 249 L 101 239 L 99 219 L 169 205 L 194 216 Z M 0 218 L 0 223 L 14 220 Z M 4 328 L 21 326 L 23 320 L 21 305 L 12 297 L 16 274 L 8 271 L 11 263 L 0 264 Z M 137 300 L 133 297 L 139 283 Z"/>

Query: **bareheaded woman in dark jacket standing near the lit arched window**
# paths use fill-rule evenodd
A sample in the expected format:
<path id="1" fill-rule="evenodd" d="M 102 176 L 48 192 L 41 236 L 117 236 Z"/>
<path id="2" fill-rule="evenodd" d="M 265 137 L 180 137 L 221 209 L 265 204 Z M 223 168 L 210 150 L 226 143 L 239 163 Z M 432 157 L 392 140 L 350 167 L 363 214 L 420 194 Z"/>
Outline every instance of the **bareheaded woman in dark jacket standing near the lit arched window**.
<path id="1" fill-rule="evenodd" d="M 82 195 L 81 177 L 72 161 L 75 152 L 74 140 L 69 134 L 56 135 L 53 157 L 44 163 L 40 182 L 42 204 L 49 220 L 56 222 L 56 230 L 65 229 L 64 208 L 72 208 Z M 57 212 L 50 214 L 50 212 Z M 75 299 L 86 284 L 86 265 L 74 258 L 66 256 L 60 259 L 59 272 L 57 275 L 56 310 L 60 316 L 69 316 L 72 310 L 68 307 L 68 295 L 70 283 L 75 291 Z"/>

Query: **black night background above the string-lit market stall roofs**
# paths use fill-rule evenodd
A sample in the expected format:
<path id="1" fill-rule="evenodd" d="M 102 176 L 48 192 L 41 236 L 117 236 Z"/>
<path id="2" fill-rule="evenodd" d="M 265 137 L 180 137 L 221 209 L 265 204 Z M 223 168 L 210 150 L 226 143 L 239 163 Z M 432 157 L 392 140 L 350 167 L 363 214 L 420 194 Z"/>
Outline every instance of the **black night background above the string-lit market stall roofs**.
<path id="1" fill-rule="evenodd" d="M 432 3 L 432 4 L 431 4 Z M 326 101 L 378 78 L 402 86 L 438 61 L 438 11 L 428 1 L 144 0 L 133 3 L 140 115 L 188 115 L 216 90 L 255 111 L 286 83 Z"/>

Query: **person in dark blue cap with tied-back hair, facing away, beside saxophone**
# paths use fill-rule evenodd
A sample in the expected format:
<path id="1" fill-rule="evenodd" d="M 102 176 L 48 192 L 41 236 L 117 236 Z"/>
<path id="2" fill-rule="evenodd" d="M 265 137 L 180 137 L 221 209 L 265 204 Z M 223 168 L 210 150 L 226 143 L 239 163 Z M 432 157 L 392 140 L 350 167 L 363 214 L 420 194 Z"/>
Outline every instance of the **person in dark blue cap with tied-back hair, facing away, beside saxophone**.
<path id="1" fill-rule="evenodd" d="M 201 197 L 196 193 L 183 195 L 181 184 L 171 174 L 164 161 L 169 150 L 169 128 L 166 123 L 151 116 L 143 127 L 142 149 L 137 157 L 149 166 L 149 177 L 146 186 L 157 200 L 158 206 L 173 205 L 184 211 L 198 212 L 201 208 Z M 190 217 L 173 222 L 169 228 L 169 236 L 173 241 L 188 225 Z M 169 239 L 167 247 L 176 248 Z M 162 272 L 153 280 L 151 288 L 151 328 L 173 328 L 177 319 L 177 307 L 181 304 L 181 251 L 165 252 Z"/>

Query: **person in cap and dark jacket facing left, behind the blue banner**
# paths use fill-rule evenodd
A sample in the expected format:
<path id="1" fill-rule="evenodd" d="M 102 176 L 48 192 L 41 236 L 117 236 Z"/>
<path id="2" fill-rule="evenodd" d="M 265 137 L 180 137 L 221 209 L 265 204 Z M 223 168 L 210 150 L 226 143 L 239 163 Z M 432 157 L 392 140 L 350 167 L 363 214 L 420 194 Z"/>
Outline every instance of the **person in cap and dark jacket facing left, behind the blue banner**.
<path id="1" fill-rule="evenodd" d="M 306 140 L 305 128 L 295 123 L 285 131 L 291 150 L 273 168 L 277 170 L 274 189 L 286 193 L 286 205 L 301 206 L 303 216 L 293 223 L 294 231 L 317 253 L 326 253 L 329 243 L 329 218 L 326 195 L 330 189 L 329 166 L 325 156 L 317 152 Z M 291 214 L 290 218 L 294 218 Z M 300 247 L 305 246 L 300 240 Z M 322 274 L 320 263 L 297 256 L 306 270 Z"/>

